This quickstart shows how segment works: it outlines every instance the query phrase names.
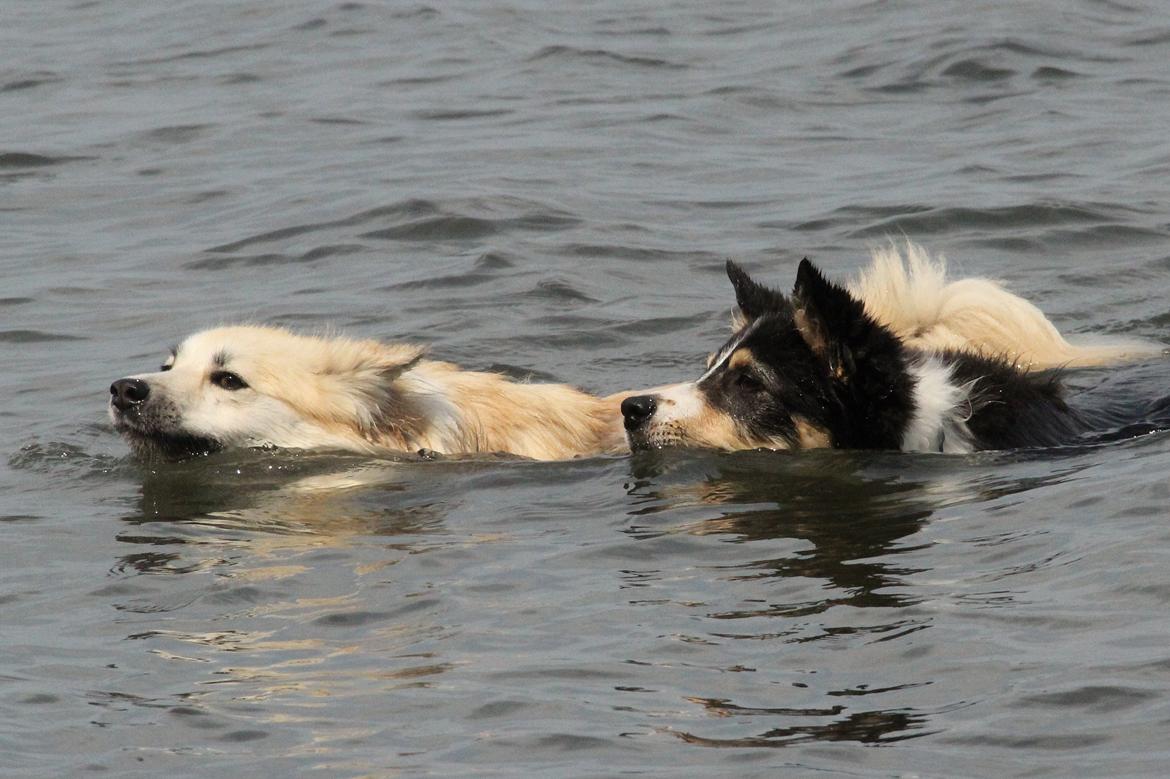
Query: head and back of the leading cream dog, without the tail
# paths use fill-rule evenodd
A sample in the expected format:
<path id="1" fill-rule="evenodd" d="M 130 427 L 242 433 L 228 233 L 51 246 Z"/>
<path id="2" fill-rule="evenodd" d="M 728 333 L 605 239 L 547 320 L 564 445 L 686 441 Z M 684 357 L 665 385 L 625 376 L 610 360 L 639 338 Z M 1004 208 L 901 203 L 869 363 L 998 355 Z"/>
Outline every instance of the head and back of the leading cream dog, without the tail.
<path id="1" fill-rule="evenodd" d="M 463 371 L 413 345 L 268 326 L 198 332 L 154 373 L 110 386 L 115 428 L 143 455 L 236 447 L 365 454 L 626 450 L 619 398 Z"/>

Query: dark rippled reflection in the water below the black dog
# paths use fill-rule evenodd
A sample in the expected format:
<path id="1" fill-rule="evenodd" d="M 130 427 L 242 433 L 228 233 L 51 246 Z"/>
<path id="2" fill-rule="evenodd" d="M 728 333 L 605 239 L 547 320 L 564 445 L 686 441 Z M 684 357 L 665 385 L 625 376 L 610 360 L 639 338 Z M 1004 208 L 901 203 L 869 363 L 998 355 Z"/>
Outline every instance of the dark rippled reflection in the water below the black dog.
<path id="1" fill-rule="evenodd" d="M 724 542 L 703 546 L 717 561 L 704 568 L 706 586 L 691 587 L 702 599 L 688 604 L 688 615 L 702 625 L 696 640 L 753 677 L 696 676 L 683 699 L 709 725 L 683 719 L 665 732 L 695 746 L 739 749 L 888 744 L 936 732 L 934 717 L 968 703 L 948 698 L 945 684 L 915 677 L 907 666 L 917 647 L 930 646 L 925 632 L 935 620 L 929 588 L 914 586 L 930 575 L 934 559 L 922 531 L 948 509 L 1061 477 L 1052 463 L 1034 477 L 1019 468 L 996 476 L 989 464 L 998 466 L 998 457 L 825 451 L 633 459 L 626 532 L 648 543 L 673 535 Z M 823 682 L 819 669 L 833 667 L 825 652 L 846 649 L 868 660 Z M 890 667 L 903 678 L 892 678 Z M 794 669 L 806 681 L 792 681 Z"/>

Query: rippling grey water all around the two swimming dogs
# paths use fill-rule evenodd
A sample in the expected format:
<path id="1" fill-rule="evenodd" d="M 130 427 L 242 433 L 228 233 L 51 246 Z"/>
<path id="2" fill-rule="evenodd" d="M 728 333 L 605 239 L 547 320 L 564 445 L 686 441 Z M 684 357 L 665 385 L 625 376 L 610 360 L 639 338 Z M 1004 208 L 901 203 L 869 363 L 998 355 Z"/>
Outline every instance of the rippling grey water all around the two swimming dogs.
<path id="1" fill-rule="evenodd" d="M 221 322 L 680 380 L 725 257 L 903 235 L 1165 340 L 1163 11 L 9 4 L 0 773 L 1163 774 L 1164 435 L 144 468 L 104 418 Z"/>

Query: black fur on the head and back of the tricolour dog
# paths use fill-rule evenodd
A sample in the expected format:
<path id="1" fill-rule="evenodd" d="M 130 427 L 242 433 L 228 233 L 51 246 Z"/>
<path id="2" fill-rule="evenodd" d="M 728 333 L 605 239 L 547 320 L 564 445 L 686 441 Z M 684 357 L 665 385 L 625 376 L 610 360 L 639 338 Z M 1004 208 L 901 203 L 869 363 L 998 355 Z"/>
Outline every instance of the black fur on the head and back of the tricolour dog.
<path id="1" fill-rule="evenodd" d="M 752 360 L 706 377 L 700 389 L 708 402 L 757 439 L 796 443 L 797 420 L 805 420 L 834 447 L 901 448 L 915 413 L 909 363 L 918 356 L 808 260 L 791 299 L 731 261 L 727 271 L 746 324 L 723 351 L 746 349 Z M 1054 446 L 1086 429 L 1052 374 L 958 352 L 940 358 L 956 385 L 970 387 L 959 412 L 977 449 Z"/>

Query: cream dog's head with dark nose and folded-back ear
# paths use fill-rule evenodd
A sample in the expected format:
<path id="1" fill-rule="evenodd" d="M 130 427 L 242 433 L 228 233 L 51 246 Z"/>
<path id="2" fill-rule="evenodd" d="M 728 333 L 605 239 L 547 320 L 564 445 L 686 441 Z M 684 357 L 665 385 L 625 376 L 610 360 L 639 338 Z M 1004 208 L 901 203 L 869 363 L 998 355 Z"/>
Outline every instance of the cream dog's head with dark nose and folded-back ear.
<path id="1" fill-rule="evenodd" d="M 115 428 L 142 454 L 225 447 L 360 448 L 412 421 L 395 381 L 415 346 L 263 326 L 195 333 L 154 373 L 110 386 Z"/>

